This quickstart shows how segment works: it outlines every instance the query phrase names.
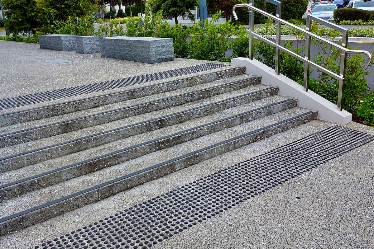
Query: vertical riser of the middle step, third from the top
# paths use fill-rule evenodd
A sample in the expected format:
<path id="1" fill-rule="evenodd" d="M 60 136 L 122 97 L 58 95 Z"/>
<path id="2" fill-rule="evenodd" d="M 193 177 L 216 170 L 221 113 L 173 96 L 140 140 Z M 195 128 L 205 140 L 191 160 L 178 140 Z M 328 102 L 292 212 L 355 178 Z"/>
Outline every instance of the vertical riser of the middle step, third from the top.
<path id="1" fill-rule="evenodd" d="M 157 130 L 159 128 L 178 124 L 190 119 L 199 118 L 214 112 L 219 112 L 225 109 L 233 108 L 235 106 L 244 105 L 252 101 L 262 99 L 264 97 L 274 96 L 276 94 L 278 94 L 278 88 L 273 88 L 267 91 L 260 91 L 248 96 L 240 96 L 224 102 L 213 103 L 212 105 L 203 106 L 199 109 L 193 109 L 183 113 L 169 115 L 165 118 L 155 119 L 148 122 L 143 122 L 141 124 L 135 124 L 123 129 L 118 129 L 116 131 L 111 131 L 108 133 L 99 134 L 97 136 L 91 136 L 83 139 L 78 138 L 78 140 L 73 140 L 70 143 L 64 143 L 59 146 L 49 147 L 25 155 L 3 159 L 0 160 L 0 173 L 43 162 L 52 158 L 57 158 L 59 156 L 86 150 L 95 146 L 100 146 L 102 144 L 110 143 L 126 137 Z"/>

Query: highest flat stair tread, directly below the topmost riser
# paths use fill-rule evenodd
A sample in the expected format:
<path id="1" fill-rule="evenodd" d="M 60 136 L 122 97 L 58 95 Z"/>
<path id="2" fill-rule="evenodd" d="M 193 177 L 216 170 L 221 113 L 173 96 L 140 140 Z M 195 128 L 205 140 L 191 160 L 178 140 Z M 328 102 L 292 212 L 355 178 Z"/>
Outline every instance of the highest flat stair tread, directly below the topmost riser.
<path id="1" fill-rule="evenodd" d="M 252 77 L 252 76 L 242 74 L 242 75 L 237 75 L 237 76 L 230 77 L 230 78 L 225 78 L 225 79 L 222 79 L 222 80 L 211 81 L 211 82 L 207 82 L 207 83 L 203 83 L 203 84 L 199 84 L 199 85 L 194 85 L 194 86 L 190 86 L 190 87 L 179 88 L 177 90 L 167 91 L 165 93 L 152 94 L 150 96 L 140 97 L 140 98 L 137 98 L 137 99 L 129 99 L 129 100 L 126 100 L 126 101 L 123 101 L 123 102 L 117 102 L 117 103 L 113 103 L 113 104 L 109 104 L 109 105 L 103 105 L 103 106 L 99 106 L 99 107 L 96 107 L 96 108 L 85 109 L 85 110 L 82 110 L 82 111 L 76 111 L 76 112 L 72 112 L 72 113 L 68 113 L 68 114 L 52 116 L 52 117 L 49 117 L 49 118 L 37 119 L 37 120 L 34 120 L 34 121 L 29 121 L 29 122 L 25 122 L 25 123 L 21 123 L 21 124 L 15 124 L 15 125 L 9 125 L 9 126 L 6 126 L 6 127 L 0 127 L 0 136 L 3 135 L 3 134 L 13 133 L 13 132 L 17 132 L 17 131 L 21 131 L 21 130 L 25 130 L 25 129 L 29 129 L 29 128 L 33 128 L 33 127 L 50 125 L 50 124 L 54 124 L 56 122 L 64 122 L 64 121 L 74 119 L 74 118 L 82 118 L 82 117 L 88 116 L 88 115 L 95 115 L 95 114 L 98 114 L 98 113 L 101 113 L 101 112 L 112 111 L 112 110 L 115 110 L 115 109 L 118 109 L 118 108 L 124 108 L 124 107 L 141 104 L 141 103 L 148 102 L 148 101 L 159 100 L 159 99 L 163 99 L 165 97 L 172 97 L 172 96 L 175 96 L 175 95 L 178 95 L 178 94 L 184 94 L 184 93 L 188 93 L 188 92 L 191 92 L 191 91 L 202 90 L 202 89 L 205 89 L 205 88 L 208 88 L 208 87 L 214 87 L 216 85 L 229 83 L 229 82 L 237 81 L 237 80 L 244 80 L 244 79 L 250 78 L 250 77 Z"/>

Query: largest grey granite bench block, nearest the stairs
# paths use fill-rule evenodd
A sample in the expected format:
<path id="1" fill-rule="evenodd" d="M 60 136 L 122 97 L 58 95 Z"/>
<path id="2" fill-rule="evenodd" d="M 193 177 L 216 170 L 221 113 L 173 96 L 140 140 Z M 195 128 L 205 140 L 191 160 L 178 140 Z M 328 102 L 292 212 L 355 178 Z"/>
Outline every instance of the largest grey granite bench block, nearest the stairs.
<path id="1" fill-rule="evenodd" d="M 174 60 L 172 38 L 119 36 L 99 40 L 102 57 L 144 63 Z"/>

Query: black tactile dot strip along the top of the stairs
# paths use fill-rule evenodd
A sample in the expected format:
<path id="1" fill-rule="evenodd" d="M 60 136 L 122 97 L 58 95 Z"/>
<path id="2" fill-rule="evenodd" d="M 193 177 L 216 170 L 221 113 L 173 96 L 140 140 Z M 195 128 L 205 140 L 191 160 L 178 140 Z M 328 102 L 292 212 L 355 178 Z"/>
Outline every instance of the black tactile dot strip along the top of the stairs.
<path id="1" fill-rule="evenodd" d="M 110 80 L 88 85 L 79 85 L 75 87 L 67 87 L 56 90 L 45 91 L 41 93 L 33 93 L 23 96 L 11 97 L 7 99 L 0 99 L 0 110 L 15 108 L 19 106 L 32 105 L 40 102 L 45 102 L 54 99 L 62 99 L 81 94 L 94 93 L 98 91 L 105 91 L 129 85 L 136 85 L 149 81 L 163 80 L 166 78 L 177 77 L 186 74 L 193 74 L 196 72 L 208 71 L 211 69 L 222 68 L 229 65 L 218 63 L 205 63 L 196 66 L 188 66 L 185 68 L 172 69 L 163 72 L 156 72 L 153 74 L 138 75 L 134 77 L 122 78 L 118 80 Z"/>

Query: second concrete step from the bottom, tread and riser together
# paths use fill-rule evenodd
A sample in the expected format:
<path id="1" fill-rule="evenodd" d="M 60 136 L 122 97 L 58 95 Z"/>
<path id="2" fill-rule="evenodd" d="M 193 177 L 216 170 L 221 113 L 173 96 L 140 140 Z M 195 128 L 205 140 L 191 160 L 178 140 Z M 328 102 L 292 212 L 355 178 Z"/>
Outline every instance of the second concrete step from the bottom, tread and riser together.
<path id="1" fill-rule="evenodd" d="M 0 174 L 0 179 L 4 183 L 0 186 L 0 200 L 11 199 L 157 150 L 222 131 L 292 108 L 296 106 L 296 103 L 296 99 L 273 96 L 81 152 L 71 153 L 48 160 L 44 164 L 35 164 L 5 172 Z"/>

